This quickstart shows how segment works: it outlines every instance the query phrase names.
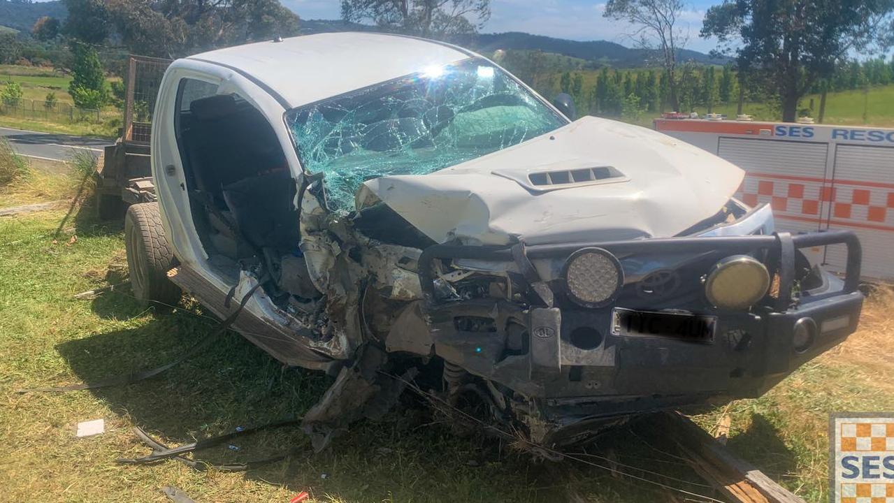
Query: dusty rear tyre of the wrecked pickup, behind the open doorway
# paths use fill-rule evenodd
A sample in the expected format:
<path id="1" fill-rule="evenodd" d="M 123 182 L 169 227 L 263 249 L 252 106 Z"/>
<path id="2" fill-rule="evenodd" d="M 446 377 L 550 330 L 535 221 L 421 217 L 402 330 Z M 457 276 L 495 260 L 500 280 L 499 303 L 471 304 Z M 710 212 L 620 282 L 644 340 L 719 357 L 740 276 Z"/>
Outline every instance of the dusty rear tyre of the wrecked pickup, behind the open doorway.
<path id="1" fill-rule="evenodd" d="M 128 208 L 124 215 L 124 247 L 127 248 L 131 289 L 140 305 L 157 302 L 176 306 L 182 292 L 167 277 L 176 259 L 173 247 L 164 237 L 158 203 L 141 203 Z"/>

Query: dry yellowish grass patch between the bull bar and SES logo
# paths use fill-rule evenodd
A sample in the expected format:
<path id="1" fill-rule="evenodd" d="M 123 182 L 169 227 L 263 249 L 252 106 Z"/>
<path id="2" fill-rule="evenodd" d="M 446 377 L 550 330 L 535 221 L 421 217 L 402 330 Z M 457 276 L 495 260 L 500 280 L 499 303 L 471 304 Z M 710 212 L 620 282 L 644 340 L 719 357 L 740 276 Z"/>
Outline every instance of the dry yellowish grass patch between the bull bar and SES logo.
<path id="1" fill-rule="evenodd" d="M 873 289 L 856 333 L 756 400 L 730 405 L 730 448 L 807 501 L 829 486 L 829 415 L 894 410 L 894 290 Z M 697 418 L 716 424 L 721 411 Z"/>

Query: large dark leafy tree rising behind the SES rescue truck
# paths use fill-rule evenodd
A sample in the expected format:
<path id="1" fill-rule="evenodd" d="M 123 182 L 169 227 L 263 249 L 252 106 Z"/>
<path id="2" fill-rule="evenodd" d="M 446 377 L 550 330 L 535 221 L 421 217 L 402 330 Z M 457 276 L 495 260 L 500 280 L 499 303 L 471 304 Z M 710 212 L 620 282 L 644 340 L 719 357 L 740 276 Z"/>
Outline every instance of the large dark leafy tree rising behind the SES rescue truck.
<path id="1" fill-rule="evenodd" d="M 894 0 L 724 0 L 704 16 L 702 37 L 735 47 L 740 72 L 760 73 L 779 96 L 782 120 L 850 51 L 889 45 Z"/>

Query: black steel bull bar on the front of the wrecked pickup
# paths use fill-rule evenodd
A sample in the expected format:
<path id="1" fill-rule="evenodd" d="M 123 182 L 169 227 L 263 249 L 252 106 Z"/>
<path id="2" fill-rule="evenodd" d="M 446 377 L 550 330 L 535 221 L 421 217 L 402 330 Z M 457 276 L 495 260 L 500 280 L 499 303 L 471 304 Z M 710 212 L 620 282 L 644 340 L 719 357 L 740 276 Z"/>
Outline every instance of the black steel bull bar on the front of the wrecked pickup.
<path id="1" fill-rule="evenodd" d="M 798 251 L 839 243 L 848 247 L 843 283 Z M 705 280 L 727 257 L 749 257 L 769 272 L 773 286 L 753 306 L 708 300 Z M 563 445 L 628 415 L 760 396 L 856 330 L 859 259 L 853 234 L 835 231 L 435 246 L 419 270 L 435 354 L 499 390 L 499 415 L 523 424 L 532 440 Z M 477 295 L 468 295 L 460 291 L 469 291 L 470 277 L 467 285 L 446 279 L 484 264 L 510 280 L 478 276 Z M 583 288 L 604 301 L 576 298 L 569 285 L 582 281 L 598 281 Z"/>

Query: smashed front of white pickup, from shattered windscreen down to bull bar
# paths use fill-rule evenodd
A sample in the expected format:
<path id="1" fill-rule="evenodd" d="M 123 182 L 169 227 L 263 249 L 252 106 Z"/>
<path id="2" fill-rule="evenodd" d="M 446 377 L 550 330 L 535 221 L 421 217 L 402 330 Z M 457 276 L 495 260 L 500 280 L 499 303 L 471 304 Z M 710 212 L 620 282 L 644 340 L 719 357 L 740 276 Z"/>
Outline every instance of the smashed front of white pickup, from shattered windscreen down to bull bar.
<path id="1" fill-rule="evenodd" d="M 483 60 L 442 73 L 286 115 L 300 249 L 266 291 L 335 376 L 305 416 L 317 449 L 414 381 L 561 447 L 759 396 L 856 330 L 852 233 L 774 233 L 769 207 L 730 198 L 730 163 L 568 123 Z M 801 251 L 828 245 L 848 248 L 844 281 Z"/>

